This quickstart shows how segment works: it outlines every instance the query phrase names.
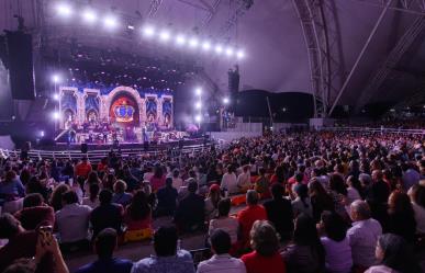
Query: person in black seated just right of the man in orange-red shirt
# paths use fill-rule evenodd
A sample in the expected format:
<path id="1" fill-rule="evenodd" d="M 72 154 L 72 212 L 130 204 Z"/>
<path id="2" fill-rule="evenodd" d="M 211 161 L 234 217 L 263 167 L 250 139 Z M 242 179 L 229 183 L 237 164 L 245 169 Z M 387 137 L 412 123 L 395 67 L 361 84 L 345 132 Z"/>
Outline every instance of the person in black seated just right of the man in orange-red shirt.
<path id="1" fill-rule="evenodd" d="M 272 200 L 264 203 L 267 218 L 275 225 L 281 240 L 289 240 L 293 231 L 293 213 L 291 202 L 283 198 L 284 187 L 280 183 L 271 186 Z"/>

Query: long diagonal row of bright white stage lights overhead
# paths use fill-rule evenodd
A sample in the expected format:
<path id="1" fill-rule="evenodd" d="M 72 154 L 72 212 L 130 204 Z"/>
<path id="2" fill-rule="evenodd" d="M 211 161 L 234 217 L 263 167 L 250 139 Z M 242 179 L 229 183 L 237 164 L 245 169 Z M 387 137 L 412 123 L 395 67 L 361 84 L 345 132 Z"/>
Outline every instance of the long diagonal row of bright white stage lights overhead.
<path id="1" fill-rule="evenodd" d="M 197 35 L 184 35 L 179 32 L 171 32 L 168 29 L 158 29 L 154 25 L 143 25 L 135 27 L 134 25 L 125 25 L 120 22 L 119 18 L 113 13 L 99 14 L 91 8 L 83 9 L 82 11 L 76 11 L 74 7 L 67 2 L 58 2 L 55 7 L 58 16 L 69 19 L 74 15 L 79 16 L 81 21 L 89 25 L 101 24 L 103 29 L 108 31 L 114 31 L 116 29 L 126 29 L 130 31 L 139 31 L 141 35 L 145 39 L 157 41 L 159 44 L 174 45 L 177 48 L 187 48 L 191 52 L 210 53 L 215 56 L 224 56 L 232 59 L 243 59 L 245 53 L 241 48 L 236 48 L 230 45 L 222 45 L 220 43 L 212 43 L 209 39 L 203 39 Z"/>

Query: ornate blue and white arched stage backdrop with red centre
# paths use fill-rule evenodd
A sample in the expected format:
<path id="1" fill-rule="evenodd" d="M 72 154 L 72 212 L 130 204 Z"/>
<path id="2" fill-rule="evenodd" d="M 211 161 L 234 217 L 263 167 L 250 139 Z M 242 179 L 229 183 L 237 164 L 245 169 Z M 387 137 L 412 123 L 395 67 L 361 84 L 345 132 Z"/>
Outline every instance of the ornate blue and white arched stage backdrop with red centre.
<path id="1" fill-rule="evenodd" d="M 174 124 L 174 98 L 168 91 L 60 87 L 59 92 L 61 128 L 70 121 L 81 124 L 92 120 L 135 127 L 156 124 L 165 129 Z"/>

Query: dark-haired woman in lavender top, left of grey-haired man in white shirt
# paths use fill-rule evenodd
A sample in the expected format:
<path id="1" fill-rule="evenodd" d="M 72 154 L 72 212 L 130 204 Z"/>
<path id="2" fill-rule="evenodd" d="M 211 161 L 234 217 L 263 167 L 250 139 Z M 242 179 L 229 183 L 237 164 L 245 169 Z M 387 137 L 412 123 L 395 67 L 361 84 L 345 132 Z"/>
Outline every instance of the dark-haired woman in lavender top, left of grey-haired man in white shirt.
<path id="1" fill-rule="evenodd" d="M 326 272 L 350 273 L 353 266 L 351 248 L 344 219 L 336 213 L 324 212 L 320 227 L 325 236 L 321 238 L 325 248 Z"/>

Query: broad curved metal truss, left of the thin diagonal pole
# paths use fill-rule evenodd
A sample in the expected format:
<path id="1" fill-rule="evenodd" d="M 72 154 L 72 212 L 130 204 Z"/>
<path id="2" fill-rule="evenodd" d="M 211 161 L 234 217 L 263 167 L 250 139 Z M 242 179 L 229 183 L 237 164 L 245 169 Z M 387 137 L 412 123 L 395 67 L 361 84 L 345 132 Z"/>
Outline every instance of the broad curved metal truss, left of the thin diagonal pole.
<path id="1" fill-rule="evenodd" d="M 345 76 L 334 0 L 292 0 L 309 54 L 314 117 L 326 117 Z"/>

